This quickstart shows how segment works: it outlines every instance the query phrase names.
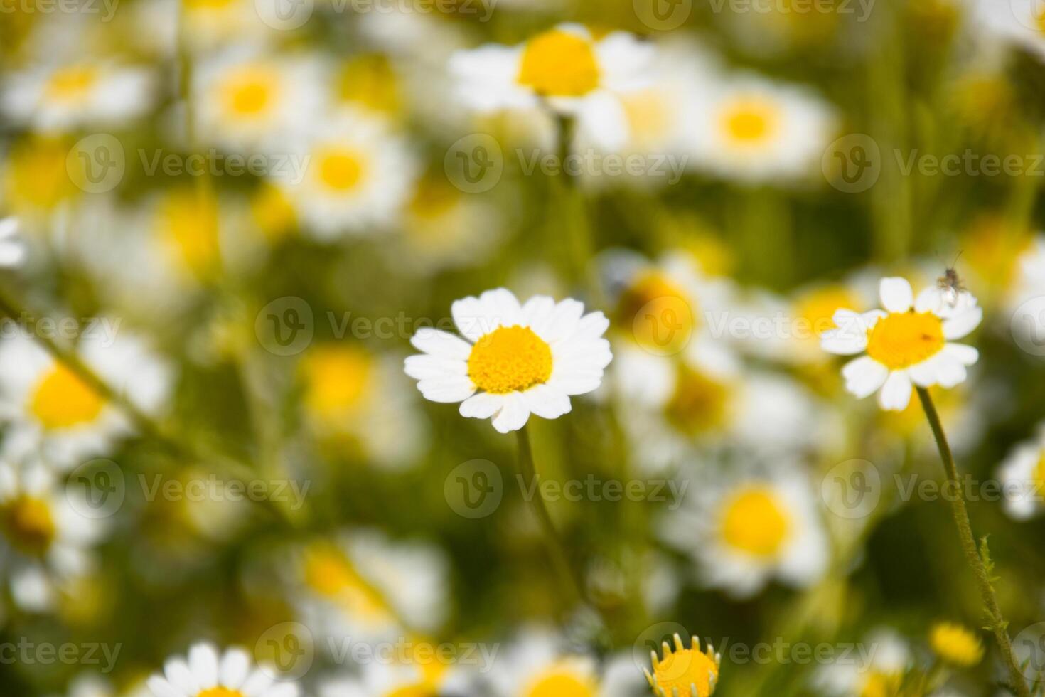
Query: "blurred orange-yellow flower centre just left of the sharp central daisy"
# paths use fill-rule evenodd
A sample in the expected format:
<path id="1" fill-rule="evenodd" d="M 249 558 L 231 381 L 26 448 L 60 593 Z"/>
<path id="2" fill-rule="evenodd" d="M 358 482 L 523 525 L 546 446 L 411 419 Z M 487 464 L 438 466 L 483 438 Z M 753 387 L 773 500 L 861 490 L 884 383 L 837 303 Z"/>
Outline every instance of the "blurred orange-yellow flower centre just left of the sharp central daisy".
<path id="1" fill-rule="evenodd" d="M 305 406 L 318 416 L 336 418 L 363 403 L 372 379 L 373 359 L 357 349 L 324 346 L 309 351 L 301 369 Z"/>

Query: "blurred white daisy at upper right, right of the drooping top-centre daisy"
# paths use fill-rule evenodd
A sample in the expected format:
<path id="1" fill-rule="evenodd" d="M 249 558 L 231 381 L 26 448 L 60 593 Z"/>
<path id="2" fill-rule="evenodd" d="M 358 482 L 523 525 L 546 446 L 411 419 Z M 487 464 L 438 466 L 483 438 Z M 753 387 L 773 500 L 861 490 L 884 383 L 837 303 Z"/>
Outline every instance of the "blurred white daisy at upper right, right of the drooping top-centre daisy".
<path id="1" fill-rule="evenodd" d="M 738 75 L 711 84 L 701 100 L 689 123 L 695 167 L 745 182 L 818 171 L 834 113 L 809 90 Z"/>

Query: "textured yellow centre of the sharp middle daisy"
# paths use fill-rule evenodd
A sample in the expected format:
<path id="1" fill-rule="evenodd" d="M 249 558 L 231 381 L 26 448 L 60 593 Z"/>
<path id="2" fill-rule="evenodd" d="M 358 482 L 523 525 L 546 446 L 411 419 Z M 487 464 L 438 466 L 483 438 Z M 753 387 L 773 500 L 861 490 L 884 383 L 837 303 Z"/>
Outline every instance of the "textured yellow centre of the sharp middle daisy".
<path id="1" fill-rule="evenodd" d="M 468 376 L 493 394 L 529 390 L 552 376 L 552 347 L 529 327 L 498 327 L 471 347 Z"/>

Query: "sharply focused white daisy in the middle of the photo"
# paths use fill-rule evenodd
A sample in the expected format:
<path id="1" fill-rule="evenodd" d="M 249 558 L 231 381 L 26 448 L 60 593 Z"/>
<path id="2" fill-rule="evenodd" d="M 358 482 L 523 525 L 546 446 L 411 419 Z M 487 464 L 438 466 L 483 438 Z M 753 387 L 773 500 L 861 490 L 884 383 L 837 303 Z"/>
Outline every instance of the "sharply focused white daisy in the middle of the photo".
<path id="1" fill-rule="evenodd" d="M 425 399 L 461 402 L 461 416 L 492 419 L 501 433 L 518 431 L 531 414 L 557 419 L 570 397 L 595 391 L 612 359 L 602 338 L 609 320 L 584 305 L 534 296 L 520 305 L 510 291 L 458 300 L 451 315 L 461 339 L 425 328 L 411 343 L 407 374 Z"/>

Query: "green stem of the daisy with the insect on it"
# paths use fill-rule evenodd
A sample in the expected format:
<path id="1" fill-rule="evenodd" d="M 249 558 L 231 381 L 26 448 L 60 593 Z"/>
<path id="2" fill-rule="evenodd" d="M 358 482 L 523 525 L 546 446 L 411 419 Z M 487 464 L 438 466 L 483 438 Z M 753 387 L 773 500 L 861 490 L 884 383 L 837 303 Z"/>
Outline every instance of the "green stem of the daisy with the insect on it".
<path id="1" fill-rule="evenodd" d="M 951 513 L 954 516 L 954 524 L 958 527 L 958 537 L 961 540 L 961 549 L 966 553 L 966 559 L 976 575 L 976 583 L 979 586 L 980 596 L 983 600 L 984 609 L 991 619 L 991 630 L 998 642 L 1001 650 L 1001 657 L 1008 669 L 1009 678 L 1013 681 L 1013 689 L 1019 697 L 1030 697 L 1023 672 L 1013 653 L 1013 643 L 1008 638 L 1008 623 L 1001 613 L 998 605 L 998 596 L 991 584 L 991 576 L 988 573 L 986 564 L 976 549 L 976 538 L 973 536 L 973 529 L 969 522 L 969 511 L 966 508 L 966 499 L 962 494 L 960 483 L 958 482 L 958 469 L 954 464 L 954 456 L 951 454 L 951 446 L 947 442 L 947 435 L 939 421 L 939 414 L 936 413 L 936 405 L 932 403 L 932 397 L 925 388 L 918 388 L 919 399 L 922 400 L 922 408 L 925 410 L 926 418 L 929 419 L 929 426 L 932 427 L 932 435 L 936 438 L 936 446 L 939 448 L 939 458 L 944 461 L 944 469 L 947 470 L 947 478 L 950 480 L 956 495 L 951 496 Z"/>

